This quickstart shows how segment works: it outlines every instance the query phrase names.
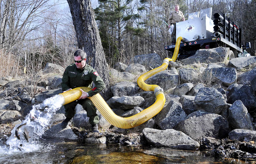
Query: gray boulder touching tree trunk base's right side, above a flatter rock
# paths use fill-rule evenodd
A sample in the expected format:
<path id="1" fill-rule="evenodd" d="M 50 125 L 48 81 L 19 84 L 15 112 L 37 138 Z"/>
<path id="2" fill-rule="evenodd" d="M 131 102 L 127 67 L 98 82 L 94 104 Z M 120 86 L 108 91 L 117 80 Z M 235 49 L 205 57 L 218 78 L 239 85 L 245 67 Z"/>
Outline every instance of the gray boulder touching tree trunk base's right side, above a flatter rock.
<path id="1" fill-rule="evenodd" d="M 118 97 L 132 96 L 140 90 L 137 84 L 128 81 L 119 82 L 115 86 L 111 86 L 110 89 L 113 95 Z"/>

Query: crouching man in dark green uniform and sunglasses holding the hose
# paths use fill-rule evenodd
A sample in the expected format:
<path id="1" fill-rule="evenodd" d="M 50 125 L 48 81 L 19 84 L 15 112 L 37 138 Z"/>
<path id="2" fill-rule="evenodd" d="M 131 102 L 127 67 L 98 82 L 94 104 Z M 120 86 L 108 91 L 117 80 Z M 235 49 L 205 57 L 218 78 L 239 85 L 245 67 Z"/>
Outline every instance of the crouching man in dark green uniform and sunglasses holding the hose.
<path id="1" fill-rule="evenodd" d="M 105 84 L 97 71 L 90 65 L 86 64 L 86 53 L 83 50 L 76 50 L 74 53 L 74 61 L 75 64 L 69 65 L 63 74 L 61 83 L 62 91 L 66 92 L 81 86 L 92 87 L 92 82 L 95 86 L 91 91 L 88 91 L 88 93 L 81 90 L 82 95 L 78 100 L 64 105 L 66 119 L 61 123 L 61 126 L 63 128 L 68 126 L 68 123 L 75 115 L 76 105 L 80 104 L 87 112 L 89 122 L 92 125 L 92 131 L 99 133 L 97 124 L 99 123 L 99 116 L 96 114 L 97 109 L 93 105 L 92 101 L 87 97 L 91 97 L 99 93 L 105 88 Z"/>

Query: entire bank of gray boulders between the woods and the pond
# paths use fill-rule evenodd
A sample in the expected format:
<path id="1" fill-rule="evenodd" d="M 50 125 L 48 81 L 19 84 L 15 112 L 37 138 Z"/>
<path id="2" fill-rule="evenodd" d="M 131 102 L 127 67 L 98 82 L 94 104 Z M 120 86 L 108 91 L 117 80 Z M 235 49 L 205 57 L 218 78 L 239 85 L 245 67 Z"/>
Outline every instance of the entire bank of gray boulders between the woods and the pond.
<path id="1" fill-rule="evenodd" d="M 170 62 L 167 70 L 145 80 L 147 84 L 160 86 L 166 99 L 164 108 L 145 123 L 124 130 L 109 124 L 98 112 L 100 133 L 91 133 L 87 130 L 91 128 L 87 113 L 77 105 L 71 125 L 62 129 L 60 122 L 65 119 L 62 106 L 42 137 L 201 150 L 220 158 L 255 158 L 256 56 L 226 61 L 229 48 L 214 49 L 199 50 L 204 51 L 198 52 L 200 56 L 195 54 L 181 63 Z M 162 59 L 157 54 L 146 54 L 135 56 L 133 62 L 128 66 L 116 63 L 115 69 L 109 69 L 113 96 L 106 102 L 117 116 L 136 115 L 156 101 L 154 92 L 142 91 L 136 79 L 158 67 Z M 58 72 L 59 67 L 47 64 L 43 72 Z M 0 133 L 10 135 L 33 105 L 62 93 L 61 78 L 57 75 L 38 82 L 34 96 L 29 94 L 34 86 L 21 86 L 28 79 L 2 78 Z"/>

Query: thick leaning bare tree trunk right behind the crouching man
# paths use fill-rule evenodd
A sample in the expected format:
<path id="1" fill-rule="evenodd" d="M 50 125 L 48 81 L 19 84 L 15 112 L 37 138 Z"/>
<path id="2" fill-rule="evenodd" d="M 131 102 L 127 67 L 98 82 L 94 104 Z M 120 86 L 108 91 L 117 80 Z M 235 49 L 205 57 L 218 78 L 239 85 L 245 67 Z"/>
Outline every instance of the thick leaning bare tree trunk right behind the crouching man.
<path id="1" fill-rule="evenodd" d="M 94 19 L 90 0 L 67 0 L 76 30 L 78 48 L 87 54 L 87 63 L 96 69 L 106 88 L 101 92 L 104 99 L 110 98 L 108 66 L 101 45 L 100 34 Z M 104 93 L 104 94 L 103 94 Z"/>

